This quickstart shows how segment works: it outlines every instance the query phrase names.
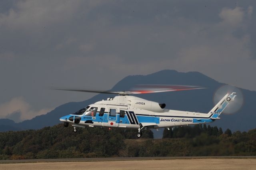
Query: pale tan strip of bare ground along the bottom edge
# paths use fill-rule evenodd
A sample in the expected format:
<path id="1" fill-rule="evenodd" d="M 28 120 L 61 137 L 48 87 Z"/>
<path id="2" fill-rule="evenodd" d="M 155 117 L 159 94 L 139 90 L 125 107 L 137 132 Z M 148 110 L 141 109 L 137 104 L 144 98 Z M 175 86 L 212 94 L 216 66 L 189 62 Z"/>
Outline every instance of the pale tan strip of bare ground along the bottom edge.
<path id="1" fill-rule="evenodd" d="M 6 169 L 185 169 L 185 170 L 255 170 L 255 158 L 196 158 L 167 160 L 118 160 L 118 161 L 86 161 L 86 162 L 34 162 L 34 163 L 3 163 L 0 170 Z"/>

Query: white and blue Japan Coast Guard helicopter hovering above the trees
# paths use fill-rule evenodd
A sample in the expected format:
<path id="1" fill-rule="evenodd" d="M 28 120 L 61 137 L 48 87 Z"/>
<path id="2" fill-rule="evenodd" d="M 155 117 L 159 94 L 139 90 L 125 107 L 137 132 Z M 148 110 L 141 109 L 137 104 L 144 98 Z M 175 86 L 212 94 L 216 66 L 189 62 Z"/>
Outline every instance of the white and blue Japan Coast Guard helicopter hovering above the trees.
<path id="1" fill-rule="evenodd" d="M 115 97 L 110 97 L 106 100 L 88 105 L 70 115 L 63 116 L 60 118 L 60 121 L 64 123 L 64 127 L 68 127 L 69 124 L 72 124 L 74 132 L 77 132 L 77 127 L 84 128 L 86 126 L 108 127 L 109 129 L 135 128 L 138 129 L 137 137 L 140 138 L 143 129 L 168 128 L 168 130 L 170 130 L 172 127 L 212 123 L 220 119 L 220 114 L 236 97 L 236 93 L 227 93 L 208 113 L 195 113 L 165 109 L 166 104 L 164 103 L 157 103 L 131 95 L 204 89 L 204 87 L 184 85 L 164 85 L 161 86 L 160 89 L 154 89 L 155 85 L 147 85 L 146 87 L 146 90 L 135 89 L 132 91 L 96 91 L 54 88 L 54 90 L 116 95 Z"/>

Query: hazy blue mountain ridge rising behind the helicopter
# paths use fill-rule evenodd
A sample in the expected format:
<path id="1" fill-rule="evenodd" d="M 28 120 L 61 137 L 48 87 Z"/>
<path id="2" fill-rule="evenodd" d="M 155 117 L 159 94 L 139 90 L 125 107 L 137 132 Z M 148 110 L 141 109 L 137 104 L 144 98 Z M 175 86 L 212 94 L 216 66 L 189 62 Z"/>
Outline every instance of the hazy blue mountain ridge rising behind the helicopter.
<path id="1" fill-rule="evenodd" d="M 118 81 L 110 90 L 129 90 L 136 84 L 180 84 L 207 87 L 207 89 L 192 91 L 134 95 L 147 100 L 166 103 L 166 109 L 194 111 L 201 113 L 208 113 L 208 111 L 212 109 L 214 106 L 212 96 L 214 95 L 216 89 L 225 85 L 224 83 L 220 83 L 197 71 L 182 73 L 175 70 L 161 70 L 148 75 L 126 76 L 122 80 Z M 240 89 L 244 95 L 245 102 L 243 108 L 234 115 L 221 115 L 221 120 L 212 123 L 214 126 L 216 125 L 218 127 L 222 127 L 223 129 L 230 128 L 231 130 L 241 131 L 255 128 L 252 120 L 256 119 L 256 116 L 249 113 L 255 113 L 255 109 L 252 107 L 253 105 L 250 105 L 250 102 L 253 100 L 255 101 L 256 92 L 242 88 L 238 89 Z M 114 97 L 114 95 L 98 94 L 85 101 L 68 102 L 56 107 L 54 110 L 46 113 L 45 115 L 36 116 L 33 119 L 22 121 L 20 123 L 9 122 L 9 124 L 7 124 L 9 127 L 0 128 L 0 131 L 12 130 L 10 126 L 13 127 L 13 130 L 39 129 L 46 126 L 53 126 L 60 123 L 59 118 L 63 115 L 68 115 L 81 109 L 82 107 L 86 107 L 89 104 L 108 97 Z M 3 122 L 3 119 L 0 119 L 0 125 L 3 125 L 1 122 Z"/>

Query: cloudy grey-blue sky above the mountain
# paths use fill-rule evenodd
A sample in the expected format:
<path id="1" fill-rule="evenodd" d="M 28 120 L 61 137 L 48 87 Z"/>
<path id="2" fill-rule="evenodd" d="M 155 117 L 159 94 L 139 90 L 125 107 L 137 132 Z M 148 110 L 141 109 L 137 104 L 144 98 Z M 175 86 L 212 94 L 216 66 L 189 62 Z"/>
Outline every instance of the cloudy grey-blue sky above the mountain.
<path id="1" fill-rule="evenodd" d="M 1 0 L 0 119 L 95 95 L 44 87 L 108 90 L 163 69 L 255 91 L 255 8 L 254 0 Z"/>

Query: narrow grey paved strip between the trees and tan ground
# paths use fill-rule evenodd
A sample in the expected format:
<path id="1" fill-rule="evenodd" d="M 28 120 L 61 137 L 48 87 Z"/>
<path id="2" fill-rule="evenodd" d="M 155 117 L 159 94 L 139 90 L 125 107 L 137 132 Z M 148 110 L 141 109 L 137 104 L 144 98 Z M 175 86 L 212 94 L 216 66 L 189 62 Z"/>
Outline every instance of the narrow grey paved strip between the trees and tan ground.
<path id="1" fill-rule="evenodd" d="M 129 161 L 129 160 L 173 160 L 173 159 L 256 159 L 256 156 L 174 156 L 174 157 L 132 157 L 132 158 L 67 158 L 67 159 L 26 159 L 0 160 L 4 163 L 34 163 L 34 162 L 97 162 L 97 161 Z"/>

